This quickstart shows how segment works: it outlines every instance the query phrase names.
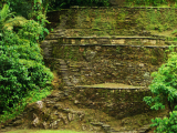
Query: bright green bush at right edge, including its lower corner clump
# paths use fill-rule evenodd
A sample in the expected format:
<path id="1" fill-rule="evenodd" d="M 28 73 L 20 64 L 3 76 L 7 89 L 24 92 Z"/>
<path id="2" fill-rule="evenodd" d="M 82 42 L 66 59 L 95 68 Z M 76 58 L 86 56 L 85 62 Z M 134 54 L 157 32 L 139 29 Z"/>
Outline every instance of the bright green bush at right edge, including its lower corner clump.
<path id="1" fill-rule="evenodd" d="M 174 50 L 174 49 L 171 49 Z M 156 117 L 152 120 L 152 126 L 157 126 L 157 133 L 176 133 L 177 132 L 177 53 L 171 52 L 168 61 L 163 64 L 158 72 L 152 74 L 154 80 L 149 89 L 154 96 L 145 96 L 144 101 L 152 110 L 165 109 L 170 110 L 169 119 Z"/>

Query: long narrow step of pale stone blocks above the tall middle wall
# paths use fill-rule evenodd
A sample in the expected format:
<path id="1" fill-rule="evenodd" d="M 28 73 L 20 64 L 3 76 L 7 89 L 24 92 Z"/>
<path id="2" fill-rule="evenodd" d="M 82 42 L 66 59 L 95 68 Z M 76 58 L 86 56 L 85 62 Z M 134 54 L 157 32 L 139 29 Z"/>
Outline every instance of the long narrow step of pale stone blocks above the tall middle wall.
<path id="1" fill-rule="evenodd" d="M 51 35 L 51 37 L 50 37 Z M 48 39 L 48 38 L 46 38 Z M 147 47 L 168 47 L 164 39 L 157 39 L 152 37 L 67 37 L 58 38 L 56 35 L 49 34 L 48 44 L 62 44 L 62 45 L 147 45 Z M 58 40 L 58 41 L 56 41 Z M 42 42 L 41 47 L 45 47 L 45 42 Z"/>

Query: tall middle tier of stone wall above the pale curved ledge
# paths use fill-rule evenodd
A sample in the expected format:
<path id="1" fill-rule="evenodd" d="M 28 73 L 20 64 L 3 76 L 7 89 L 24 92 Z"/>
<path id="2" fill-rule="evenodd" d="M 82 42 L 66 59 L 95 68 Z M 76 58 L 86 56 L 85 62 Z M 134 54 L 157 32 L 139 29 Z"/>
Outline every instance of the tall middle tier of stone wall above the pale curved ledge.
<path id="1" fill-rule="evenodd" d="M 148 85 L 167 54 L 165 48 L 53 47 L 53 55 L 64 59 L 74 84 L 125 83 Z M 50 61 L 48 61 L 50 62 Z M 55 68 L 52 62 L 51 68 Z"/>

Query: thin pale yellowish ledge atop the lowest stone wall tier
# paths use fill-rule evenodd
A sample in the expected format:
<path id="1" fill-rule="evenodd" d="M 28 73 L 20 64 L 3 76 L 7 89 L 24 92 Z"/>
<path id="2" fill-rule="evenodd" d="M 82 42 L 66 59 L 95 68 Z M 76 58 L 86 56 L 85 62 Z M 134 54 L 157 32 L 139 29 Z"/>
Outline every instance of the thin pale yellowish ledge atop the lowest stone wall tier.
<path id="1" fill-rule="evenodd" d="M 94 85 L 75 85 L 75 88 L 92 88 L 92 89 L 113 89 L 113 90 L 119 90 L 119 89 L 146 89 L 148 90 L 147 86 L 133 86 L 133 85 L 127 85 L 123 83 L 103 83 L 103 84 L 94 84 Z"/>

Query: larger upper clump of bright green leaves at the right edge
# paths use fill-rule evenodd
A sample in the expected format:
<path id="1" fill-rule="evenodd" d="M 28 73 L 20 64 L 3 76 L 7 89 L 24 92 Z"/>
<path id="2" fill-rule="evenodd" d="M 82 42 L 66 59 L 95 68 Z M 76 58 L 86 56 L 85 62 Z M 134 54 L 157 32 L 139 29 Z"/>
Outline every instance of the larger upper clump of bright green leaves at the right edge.
<path id="1" fill-rule="evenodd" d="M 149 85 L 150 91 L 154 93 L 154 98 L 145 96 L 144 101 L 152 106 L 152 109 L 164 109 L 168 103 L 173 111 L 177 105 L 177 54 L 170 53 L 168 61 L 163 64 L 158 72 L 154 72 L 152 75 L 154 80 Z"/>

